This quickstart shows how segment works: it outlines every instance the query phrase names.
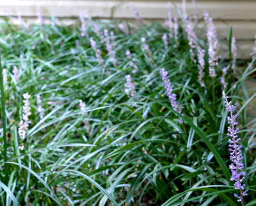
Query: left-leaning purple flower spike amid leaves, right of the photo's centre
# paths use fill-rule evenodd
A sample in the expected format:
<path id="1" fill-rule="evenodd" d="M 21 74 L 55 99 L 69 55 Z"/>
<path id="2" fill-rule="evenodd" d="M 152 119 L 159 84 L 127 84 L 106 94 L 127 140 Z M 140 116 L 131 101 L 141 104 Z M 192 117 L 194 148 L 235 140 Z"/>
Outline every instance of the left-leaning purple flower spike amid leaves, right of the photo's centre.
<path id="1" fill-rule="evenodd" d="M 170 101 L 171 101 L 171 107 L 173 110 L 177 111 L 177 113 L 181 114 L 181 108 L 178 108 L 179 106 L 179 102 L 177 102 L 176 97 L 177 95 L 175 93 L 172 93 L 172 86 L 171 86 L 171 82 L 170 79 L 168 77 L 168 72 L 164 69 L 160 70 L 160 74 L 162 77 L 162 81 L 165 85 L 165 89 L 166 89 L 166 93 L 167 93 L 167 97 L 169 97 Z M 184 114 L 182 114 L 184 115 Z M 182 119 L 179 118 L 179 124 L 182 124 Z"/>

